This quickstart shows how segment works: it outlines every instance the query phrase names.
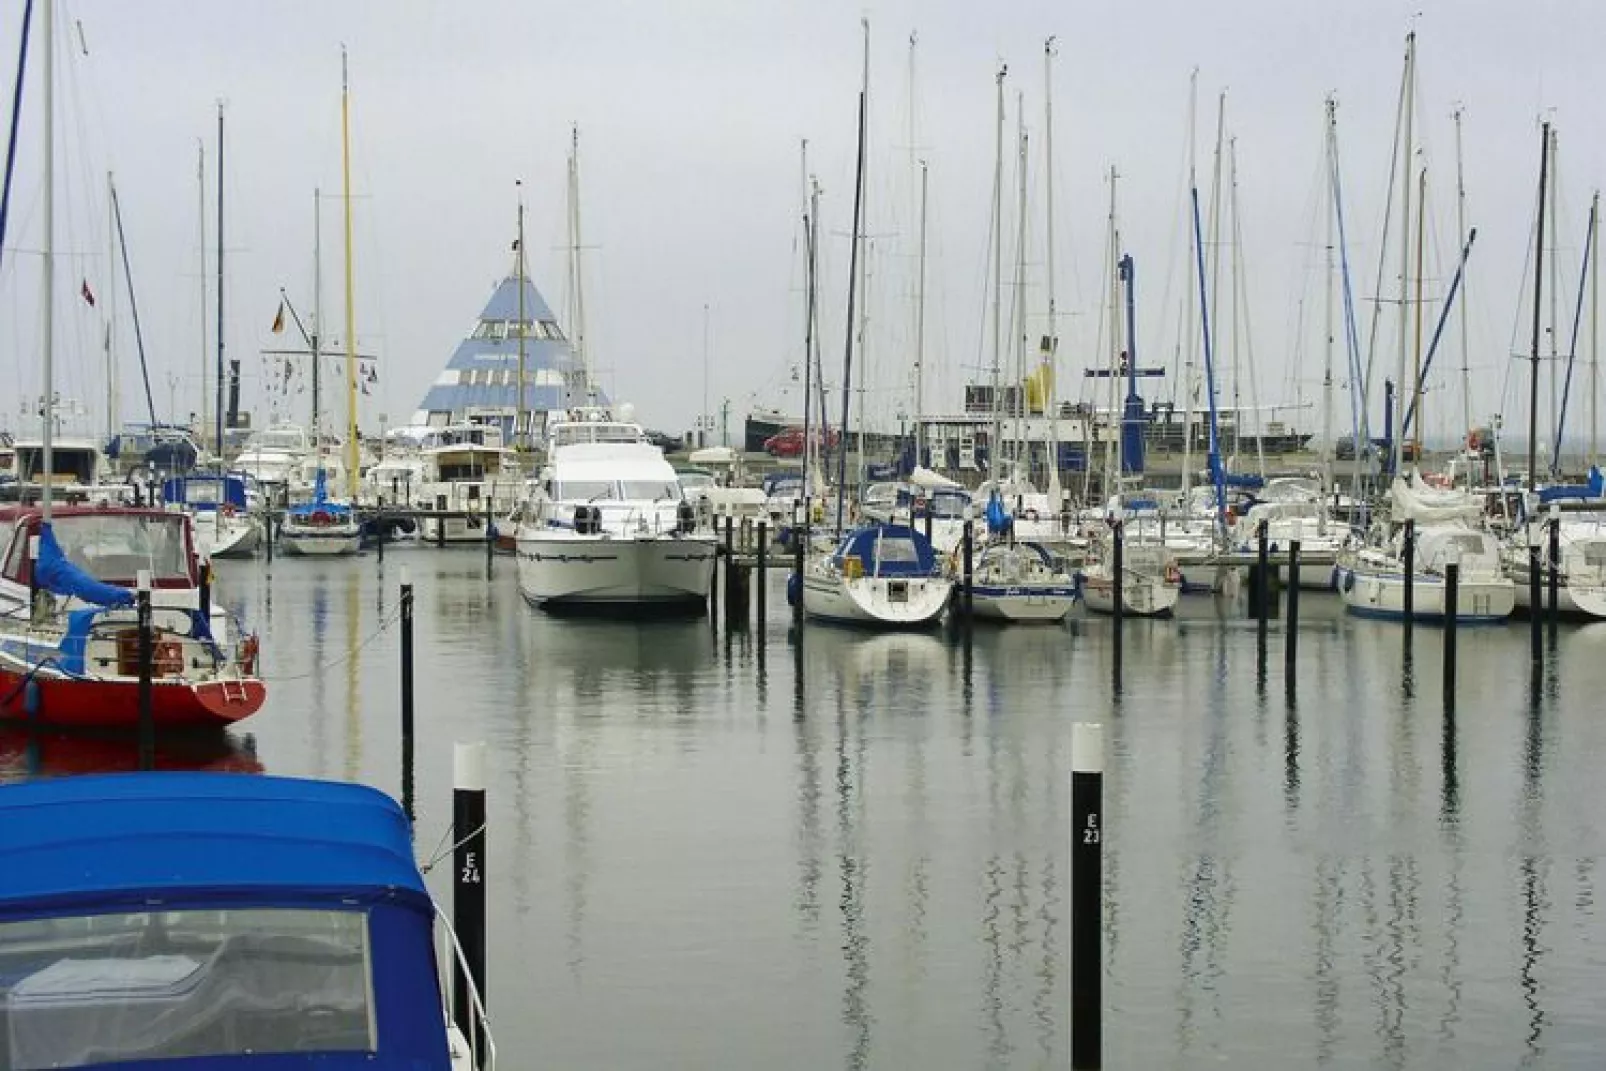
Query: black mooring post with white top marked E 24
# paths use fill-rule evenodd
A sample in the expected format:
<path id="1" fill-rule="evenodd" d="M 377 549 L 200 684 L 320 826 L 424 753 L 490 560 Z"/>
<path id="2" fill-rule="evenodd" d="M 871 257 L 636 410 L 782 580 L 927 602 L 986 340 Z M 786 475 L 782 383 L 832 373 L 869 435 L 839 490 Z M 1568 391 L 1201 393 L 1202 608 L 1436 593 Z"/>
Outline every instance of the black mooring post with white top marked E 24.
<path id="1" fill-rule="evenodd" d="M 485 1036 L 469 991 L 485 1004 L 485 745 L 458 743 L 451 753 L 451 928 L 463 946 L 453 967 L 451 1015 L 483 1060 Z M 467 968 L 467 978 L 464 978 Z"/>

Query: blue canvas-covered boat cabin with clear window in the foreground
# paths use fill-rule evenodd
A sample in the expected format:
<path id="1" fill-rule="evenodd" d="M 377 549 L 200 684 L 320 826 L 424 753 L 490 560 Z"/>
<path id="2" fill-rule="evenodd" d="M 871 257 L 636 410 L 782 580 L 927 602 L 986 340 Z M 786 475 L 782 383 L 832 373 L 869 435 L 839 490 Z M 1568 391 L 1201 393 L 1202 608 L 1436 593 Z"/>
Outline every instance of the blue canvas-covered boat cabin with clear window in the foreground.
<path id="1" fill-rule="evenodd" d="M 0 1068 L 448 1068 L 435 907 L 365 785 L 0 792 Z"/>

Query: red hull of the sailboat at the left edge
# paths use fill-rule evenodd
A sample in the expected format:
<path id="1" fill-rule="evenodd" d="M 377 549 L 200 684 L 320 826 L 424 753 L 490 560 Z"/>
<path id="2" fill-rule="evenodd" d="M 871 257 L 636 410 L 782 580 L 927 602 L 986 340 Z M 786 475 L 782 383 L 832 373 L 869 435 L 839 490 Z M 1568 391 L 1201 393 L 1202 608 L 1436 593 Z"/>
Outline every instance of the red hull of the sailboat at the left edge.
<path id="1" fill-rule="evenodd" d="M 93 681 L 47 676 L 32 679 L 37 707 L 29 711 L 29 684 L 11 670 L 0 670 L 0 718 L 35 726 L 138 729 L 140 682 Z M 151 682 L 151 716 L 157 729 L 202 729 L 230 726 L 262 708 L 268 689 L 257 679 L 246 681 L 164 681 Z"/>

